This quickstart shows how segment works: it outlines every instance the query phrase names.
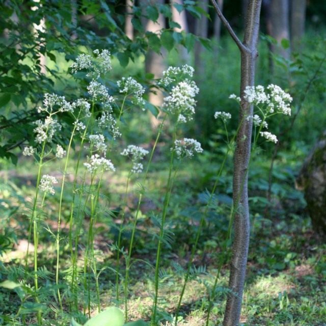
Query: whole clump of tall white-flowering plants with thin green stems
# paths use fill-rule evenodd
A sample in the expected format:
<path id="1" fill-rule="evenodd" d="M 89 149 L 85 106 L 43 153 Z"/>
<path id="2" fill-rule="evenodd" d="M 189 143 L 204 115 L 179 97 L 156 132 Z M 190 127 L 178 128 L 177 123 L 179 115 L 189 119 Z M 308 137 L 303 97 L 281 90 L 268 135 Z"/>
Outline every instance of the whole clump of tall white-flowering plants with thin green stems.
<path id="1" fill-rule="evenodd" d="M 161 267 L 161 255 L 166 239 L 171 232 L 168 230 L 168 210 L 174 183 L 178 177 L 180 166 L 203 149 L 195 139 L 180 138 L 181 126 L 193 120 L 196 107 L 196 95 L 199 89 L 192 80 L 194 69 L 188 65 L 182 67 L 169 67 L 163 72 L 162 78 L 157 81 L 157 88 L 164 93 L 164 102 L 161 107 L 161 121 L 156 130 L 156 138 L 153 146 L 140 146 L 137 144 L 125 144 L 124 135 L 121 132 L 121 124 L 126 124 L 127 114 L 138 110 L 139 114 L 146 111 L 147 102 L 144 99 L 146 88 L 133 77 L 123 77 L 117 81 L 114 88 L 108 88 L 105 84 L 106 76 L 112 69 L 110 52 L 107 50 L 95 50 L 93 53 L 84 53 L 78 56 L 71 66 L 71 71 L 82 71 L 87 83 L 87 94 L 74 101 L 67 100 L 64 96 L 45 94 L 41 106 L 37 109 L 40 119 L 35 122 L 34 142 L 26 144 L 23 155 L 33 157 L 37 166 L 37 181 L 33 206 L 30 214 L 29 242 L 33 238 L 33 295 L 37 304 L 44 304 L 40 295 L 40 275 L 42 268 L 38 266 L 39 229 L 40 220 L 44 216 L 44 207 L 50 197 L 58 196 L 56 230 L 48 228 L 56 248 L 55 263 L 55 291 L 52 291 L 58 302 L 56 313 L 76 313 L 82 307 L 83 314 L 90 317 L 92 312 L 92 289 L 95 285 L 95 297 L 97 311 L 101 310 L 100 282 L 104 269 L 114 271 L 115 274 L 115 300 L 117 304 L 124 305 L 124 318 L 128 320 L 128 297 L 130 269 L 134 261 L 133 250 L 137 223 L 141 212 L 141 204 L 147 192 L 148 173 L 153 165 L 153 155 L 157 149 L 159 139 L 165 132 L 165 123 L 169 119 L 172 134 L 169 134 L 169 170 L 166 183 L 166 193 L 162 201 L 160 216 L 158 218 L 158 230 L 154 237 L 156 259 L 154 266 L 154 295 L 151 315 L 152 326 L 158 323 L 158 297 L 159 279 Z M 111 83 L 112 85 L 112 83 Z M 242 99 L 232 94 L 231 99 L 241 102 Z M 219 119 L 225 129 L 227 151 L 219 170 L 215 172 L 215 182 L 208 193 L 206 204 L 200 210 L 200 222 L 191 248 L 191 255 L 186 263 L 183 274 L 183 286 L 180 292 L 175 325 L 179 318 L 180 307 L 189 278 L 194 270 L 194 256 L 198 247 L 201 233 L 205 226 L 205 220 L 211 203 L 218 188 L 225 162 L 232 151 L 241 123 L 252 120 L 254 129 L 253 147 L 258 146 L 259 139 L 277 142 L 276 135 L 268 130 L 268 120 L 276 114 L 290 115 L 291 97 L 278 86 L 269 85 L 266 89 L 262 86 L 248 87 L 244 92 L 244 98 L 255 105 L 253 115 L 243 117 L 235 132 L 228 130 L 228 121 L 232 119 L 230 113 L 216 111 L 214 118 Z M 67 116 L 69 119 L 67 119 Z M 69 121 L 69 122 L 67 122 Z M 69 130 L 68 142 L 63 142 L 60 132 Z M 31 146 L 33 145 L 33 146 Z M 70 171 L 68 162 L 72 156 L 76 157 L 73 171 Z M 99 266 L 96 254 L 95 237 L 96 225 L 101 221 L 103 200 L 101 191 L 104 186 L 110 184 L 113 174 L 121 173 L 117 164 L 118 157 L 129 160 L 129 169 L 122 199 L 121 210 L 118 212 L 120 219 L 116 221 L 118 230 L 117 242 L 111 246 L 115 252 L 115 265 L 106 262 Z M 62 175 L 44 173 L 44 166 L 50 166 L 53 160 L 59 160 L 62 165 Z M 48 171 L 49 169 L 47 169 Z M 69 186 L 67 176 L 70 175 L 72 185 Z M 133 188 L 133 183 L 138 182 L 138 189 Z M 58 187 L 59 185 L 59 187 Z M 107 191 L 107 189 L 106 189 Z M 137 194 L 137 206 L 132 215 L 131 225 L 127 223 L 127 198 L 128 194 L 135 191 Z M 42 196 L 41 196 L 42 195 Z M 60 270 L 62 253 L 65 253 L 66 239 L 62 232 L 63 211 L 67 209 L 65 198 L 71 198 L 68 203 L 68 244 L 70 268 L 65 273 Z M 237 203 L 233 203 L 230 212 L 229 232 L 234 212 L 238 209 Z M 126 248 L 122 246 L 122 235 L 126 228 L 131 229 Z M 224 242 L 225 245 L 227 241 Z M 226 249 L 226 248 L 225 248 Z M 122 263 L 124 259 L 125 264 Z M 149 262 L 148 262 L 149 263 Z M 214 301 L 216 286 L 220 277 L 222 263 L 209 293 L 209 307 L 207 324 L 212 303 Z M 124 268 L 124 270 L 123 270 Z M 25 257 L 25 275 L 29 274 L 29 249 Z M 124 273 L 123 273 L 124 272 Z M 123 296 L 123 299 L 121 299 Z M 53 301 L 55 302 L 55 301 Z M 37 312 L 38 323 L 44 322 L 42 310 Z"/>

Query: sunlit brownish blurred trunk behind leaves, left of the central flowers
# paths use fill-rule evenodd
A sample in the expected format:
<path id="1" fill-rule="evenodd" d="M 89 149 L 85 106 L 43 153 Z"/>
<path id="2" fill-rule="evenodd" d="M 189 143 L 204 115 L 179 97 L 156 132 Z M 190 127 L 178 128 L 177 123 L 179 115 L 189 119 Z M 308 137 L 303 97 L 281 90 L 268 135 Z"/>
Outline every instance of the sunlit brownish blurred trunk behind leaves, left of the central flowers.
<path id="1" fill-rule="evenodd" d="M 164 0 L 150 0 L 150 3 L 153 5 L 156 5 L 157 7 L 161 4 L 164 4 Z M 141 4 L 143 9 L 146 8 L 148 5 L 148 0 L 141 0 Z M 152 20 L 145 20 L 145 26 L 147 32 L 157 33 L 161 29 L 165 28 L 165 18 L 162 14 L 159 14 L 157 22 L 154 22 Z M 163 52 L 164 49 L 161 49 L 161 52 Z M 145 71 L 146 73 L 152 73 L 154 74 L 154 78 L 160 78 L 162 75 L 162 72 L 165 69 L 165 63 L 164 63 L 164 57 L 162 54 L 156 53 L 153 50 L 149 50 L 147 52 L 146 58 L 145 58 Z M 149 102 L 151 102 L 154 105 L 160 106 L 163 103 L 163 95 L 161 92 L 157 92 L 157 94 L 154 94 L 152 92 L 149 93 L 148 96 Z M 152 128 L 155 129 L 159 121 L 150 113 L 150 119 L 151 119 L 151 125 Z"/>

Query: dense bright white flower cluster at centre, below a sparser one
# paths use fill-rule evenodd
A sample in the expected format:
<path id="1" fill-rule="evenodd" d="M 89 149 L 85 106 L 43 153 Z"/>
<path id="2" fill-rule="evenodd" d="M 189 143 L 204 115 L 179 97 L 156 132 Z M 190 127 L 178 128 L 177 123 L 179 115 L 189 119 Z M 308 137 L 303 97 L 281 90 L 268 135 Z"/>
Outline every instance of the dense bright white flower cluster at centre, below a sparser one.
<path id="1" fill-rule="evenodd" d="M 172 88 L 170 95 L 164 99 L 163 106 L 168 113 L 177 115 L 179 122 L 190 121 L 195 114 L 195 96 L 198 92 L 195 82 L 184 80 Z"/>

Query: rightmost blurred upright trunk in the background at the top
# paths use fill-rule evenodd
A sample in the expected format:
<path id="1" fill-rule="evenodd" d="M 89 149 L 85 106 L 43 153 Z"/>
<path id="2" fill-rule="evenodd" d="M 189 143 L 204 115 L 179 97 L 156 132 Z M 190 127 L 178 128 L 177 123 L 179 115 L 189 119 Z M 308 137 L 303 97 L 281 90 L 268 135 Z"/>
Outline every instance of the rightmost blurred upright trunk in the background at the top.
<path id="1" fill-rule="evenodd" d="M 306 0 L 291 0 L 291 49 L 300 51 L 301 38 L 305 33 Z"/>

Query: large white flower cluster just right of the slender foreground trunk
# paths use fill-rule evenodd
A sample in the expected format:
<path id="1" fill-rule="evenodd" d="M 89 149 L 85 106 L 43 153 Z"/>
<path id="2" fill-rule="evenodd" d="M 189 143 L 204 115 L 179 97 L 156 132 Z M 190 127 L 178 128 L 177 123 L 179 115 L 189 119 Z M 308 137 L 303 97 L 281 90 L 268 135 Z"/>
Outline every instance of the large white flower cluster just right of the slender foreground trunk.
<path id="1" fill-rule="evenodd" d="M 256 105 L 265 104 L 267 106 L 267 113 L 279 112 L 285 115 L 291 115 L 290 103 L 292 97 L 285 93 L 279 86 L 270 84 L 267 86 L 267 91 L 263 86 L 247 86 L 244 90 L 244 99 L 249 103 Z"/>

